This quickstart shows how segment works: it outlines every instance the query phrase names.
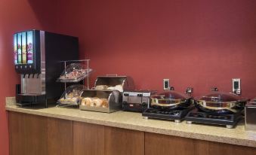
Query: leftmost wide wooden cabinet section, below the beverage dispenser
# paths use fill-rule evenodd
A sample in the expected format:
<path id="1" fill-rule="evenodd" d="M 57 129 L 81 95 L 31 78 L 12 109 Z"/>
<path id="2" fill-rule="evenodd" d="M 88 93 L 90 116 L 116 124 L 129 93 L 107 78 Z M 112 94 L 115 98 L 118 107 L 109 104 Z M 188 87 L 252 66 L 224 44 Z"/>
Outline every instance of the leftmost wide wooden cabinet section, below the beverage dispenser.
<path id="1" fill-rule="evenodd" d="M 72 154 L 72 121 L 9 112 L 10 155 Z"/>

